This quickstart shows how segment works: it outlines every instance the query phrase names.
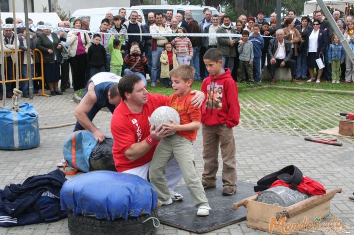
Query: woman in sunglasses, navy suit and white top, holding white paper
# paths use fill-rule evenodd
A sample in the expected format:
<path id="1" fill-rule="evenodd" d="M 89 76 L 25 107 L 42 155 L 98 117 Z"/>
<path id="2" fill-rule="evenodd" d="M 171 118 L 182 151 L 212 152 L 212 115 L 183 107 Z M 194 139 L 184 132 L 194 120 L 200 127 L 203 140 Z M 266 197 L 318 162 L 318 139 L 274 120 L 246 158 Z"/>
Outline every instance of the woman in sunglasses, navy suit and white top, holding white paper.
<path id="1" fill-rule="evenodd" d="M 316 68 L 316 83 L 320 83 L 322 72 L 324 69 L 324 66 L 319 69 L 319 64 L 324 65 L 324 53 L 327 49 L 328 37 L 327 32 L 320 29 L 319 25 L 319 19 L 315 19 L 314 23 L 312 24 L 314 28 L 306 32 L 304 47 L 307 55 L 308 71 L 311 76 L 310 79 L 307 80 L 307 82 L 312 82 L 316 79 L 314 75 L 314 68 Z"/>

